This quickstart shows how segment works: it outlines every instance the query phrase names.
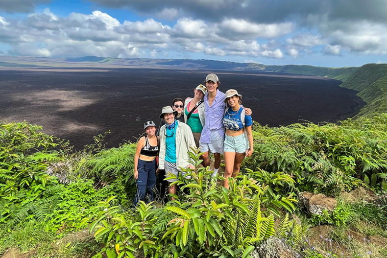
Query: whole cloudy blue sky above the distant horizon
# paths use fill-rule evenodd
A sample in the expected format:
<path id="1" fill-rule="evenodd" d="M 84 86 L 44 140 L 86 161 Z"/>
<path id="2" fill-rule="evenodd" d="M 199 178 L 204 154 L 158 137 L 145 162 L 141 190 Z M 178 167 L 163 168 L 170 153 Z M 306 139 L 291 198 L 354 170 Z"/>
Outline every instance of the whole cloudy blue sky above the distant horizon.
<path id="1" fill-rule="evenodd" d="M 0 0 L 0 55 L 387 63 L 387 0 Z"/>

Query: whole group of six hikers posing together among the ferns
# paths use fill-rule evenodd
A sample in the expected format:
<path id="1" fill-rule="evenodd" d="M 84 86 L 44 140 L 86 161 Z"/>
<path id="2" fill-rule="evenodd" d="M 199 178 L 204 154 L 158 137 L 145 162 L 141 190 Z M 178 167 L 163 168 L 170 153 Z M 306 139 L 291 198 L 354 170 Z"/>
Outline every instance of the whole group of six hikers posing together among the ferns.
<path id="1" fill-rule="evenodd" d="M 191 167 L 188 151 L 190 147 L 200 148 L 204 152 L 200 159 L 204 167 L 211 161 L 209 152 L 214 154 L 215 177 L 224 155 L 223 186 L 229 188 L 228 178 L 235 177 L 239 172 L 245 156 L 253 153 L 253 137 L 251 132 L 251 110 L 242 107 L 242 95 L 230 89 L 226 93 L 218 90 L 218 76 L 210 73 L 204 85 L 194 89 L 194 98 L 181 98 L 172 101 L 172 107 L 163 107 L 158 131 L 153 121 L 144 123 L 146 135 L 137 143 L 134 158 L 134 177 L 137 180 L 136 206 L 145 198 L 145 193 L 153 201 L 156 174 L 165 170 L 178 176 L 181 167 Z M 184 103 L 184 104 L 183 104 Z M 158 157 L 158 164 L 157 159 Z M 182 174 L 184 176 L 184 174 Z M 169 182 L 169 193 L 176 194 L 176 185 Z"/>

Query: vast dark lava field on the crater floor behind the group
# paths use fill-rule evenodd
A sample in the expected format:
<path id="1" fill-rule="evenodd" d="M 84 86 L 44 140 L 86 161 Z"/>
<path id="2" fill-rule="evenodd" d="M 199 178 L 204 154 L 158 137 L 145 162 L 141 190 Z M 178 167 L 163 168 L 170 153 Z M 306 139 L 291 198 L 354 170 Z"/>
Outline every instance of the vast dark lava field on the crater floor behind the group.
<path id="1" fill-rule="evenodd" d="M 163 106 L 192 97 L 213 71 L 165 69 L 0 70 L 0 120 L 23 121 L 70 140 L 77 149 L 110 130 L 107 147 L 136 141 L 147 120 L 160 122 Z M 336 122 L 365 104 L 340 81 L 321 77 L 214 71 L 220 91 L 236 89 L 252 118 L 269 126 L 308 120 Z"/>

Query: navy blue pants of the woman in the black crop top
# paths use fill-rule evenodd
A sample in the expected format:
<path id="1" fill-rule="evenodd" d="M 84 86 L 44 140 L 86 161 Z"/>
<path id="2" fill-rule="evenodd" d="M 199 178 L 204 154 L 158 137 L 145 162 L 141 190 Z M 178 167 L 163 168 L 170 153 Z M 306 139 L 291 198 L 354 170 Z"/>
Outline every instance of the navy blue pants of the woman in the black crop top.
<path id="1" fill-rule="evenodd" d="M 134 206 L 137 206 L 139 200 L 145 198 L 146 189 L 148 189 L 150 201 L 153 201 L 153 188 L 156 184 L 156 167 L 156 159 L 153 161 L 143 161 L 139 159 L 137 165 L 139 177 L 137 179 L 137 193 L 134 198 Z"/>

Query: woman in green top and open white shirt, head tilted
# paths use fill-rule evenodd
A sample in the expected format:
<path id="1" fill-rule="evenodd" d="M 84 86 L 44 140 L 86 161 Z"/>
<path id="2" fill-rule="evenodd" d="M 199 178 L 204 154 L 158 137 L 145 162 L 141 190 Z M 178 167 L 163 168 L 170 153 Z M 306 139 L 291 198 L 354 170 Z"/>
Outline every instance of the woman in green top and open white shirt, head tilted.
<path id="1" fill-rule="evenodd" d="M 192 130 L 197 148 L 199 147 L 200 135 L 203 130 L 206 117 L 203 102 L 203 97 L 206 93 L 206 86 L 199 84 L 194 89 L 194 98 L 187 98 L 184 103 L 184 120 Z"/>

